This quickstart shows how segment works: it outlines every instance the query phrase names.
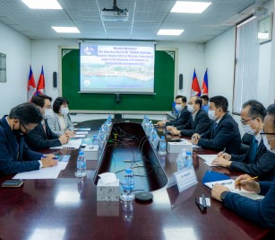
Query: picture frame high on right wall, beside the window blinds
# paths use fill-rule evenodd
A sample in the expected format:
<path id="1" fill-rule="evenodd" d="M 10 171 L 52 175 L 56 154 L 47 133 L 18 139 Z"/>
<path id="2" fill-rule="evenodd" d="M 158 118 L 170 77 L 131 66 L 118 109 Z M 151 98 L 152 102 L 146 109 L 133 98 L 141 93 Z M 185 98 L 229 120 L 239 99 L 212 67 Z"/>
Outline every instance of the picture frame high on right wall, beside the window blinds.
<path id="1" fill-rule="evenodd" d="M 258 34 L 257 34 L 258 43 L 263 43 L 263 42 L 272 40 L 272 22 L 273 22 L 272 13 L 258 20 Z"/>

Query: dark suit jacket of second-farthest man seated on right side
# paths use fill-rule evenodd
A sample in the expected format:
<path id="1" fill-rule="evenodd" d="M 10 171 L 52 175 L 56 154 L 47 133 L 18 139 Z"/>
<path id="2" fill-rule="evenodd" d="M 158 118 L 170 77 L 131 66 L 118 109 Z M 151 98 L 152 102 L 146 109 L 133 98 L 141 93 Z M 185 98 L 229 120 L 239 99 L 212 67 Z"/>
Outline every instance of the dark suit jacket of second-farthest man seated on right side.
<path id="1" fill-rule="evenodd" d="M 200 109 L 197 111 L 194 120 L 192 114 L 185 125 L 179 126 L 176 129 L 181 130 L 181 136 L 192 136 L 194 133 L 201 134 L 211 128 L 211 120 L 208 114 Z"/>

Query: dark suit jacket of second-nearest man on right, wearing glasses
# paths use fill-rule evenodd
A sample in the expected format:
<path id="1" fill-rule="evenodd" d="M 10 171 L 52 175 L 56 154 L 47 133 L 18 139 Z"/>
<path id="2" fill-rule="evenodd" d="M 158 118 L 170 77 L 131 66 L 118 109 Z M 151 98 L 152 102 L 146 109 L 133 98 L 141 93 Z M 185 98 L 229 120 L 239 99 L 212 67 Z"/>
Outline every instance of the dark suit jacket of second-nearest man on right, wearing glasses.
<path id="1" fill-rule="evenodd" d="M 232 155 L 231 161 L 230 170 L 254 174 L 262 181 L 272 181 L 275 178 L 275 154 L 267 151 L 262 141 L 254 160 L 251 158 L 251 147 L 249 147 L 245 155 Z"/>

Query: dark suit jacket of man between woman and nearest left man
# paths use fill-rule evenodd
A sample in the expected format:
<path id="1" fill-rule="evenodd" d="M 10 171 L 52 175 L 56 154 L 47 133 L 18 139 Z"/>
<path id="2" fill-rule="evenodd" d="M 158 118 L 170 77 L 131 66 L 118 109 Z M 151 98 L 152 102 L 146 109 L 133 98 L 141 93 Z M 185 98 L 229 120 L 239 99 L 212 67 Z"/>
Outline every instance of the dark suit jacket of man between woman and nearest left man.
<path id="1" fill-rule="evenodd" d="M 46 132 L 43 128 L 42 122 L 40 122 L 38 126 L 36 126 L 24 137 L 24 140 L 31 150 L 61 146 L 61 143 L 58 139 L 59 136 L 51 131 L 47 125 L 47 120 L 45 120 L 45 128 Z"/>

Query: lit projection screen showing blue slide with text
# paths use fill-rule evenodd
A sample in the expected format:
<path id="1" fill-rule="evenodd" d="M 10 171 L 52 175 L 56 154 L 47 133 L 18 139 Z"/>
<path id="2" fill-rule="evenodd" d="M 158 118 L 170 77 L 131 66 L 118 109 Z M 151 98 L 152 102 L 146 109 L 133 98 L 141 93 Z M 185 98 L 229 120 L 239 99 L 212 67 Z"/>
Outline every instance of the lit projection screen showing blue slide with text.
<path id="1" fill-rule="evenodd" d="M 80 44 L 81 92 L 154 93 L 153 42 Z"/>

